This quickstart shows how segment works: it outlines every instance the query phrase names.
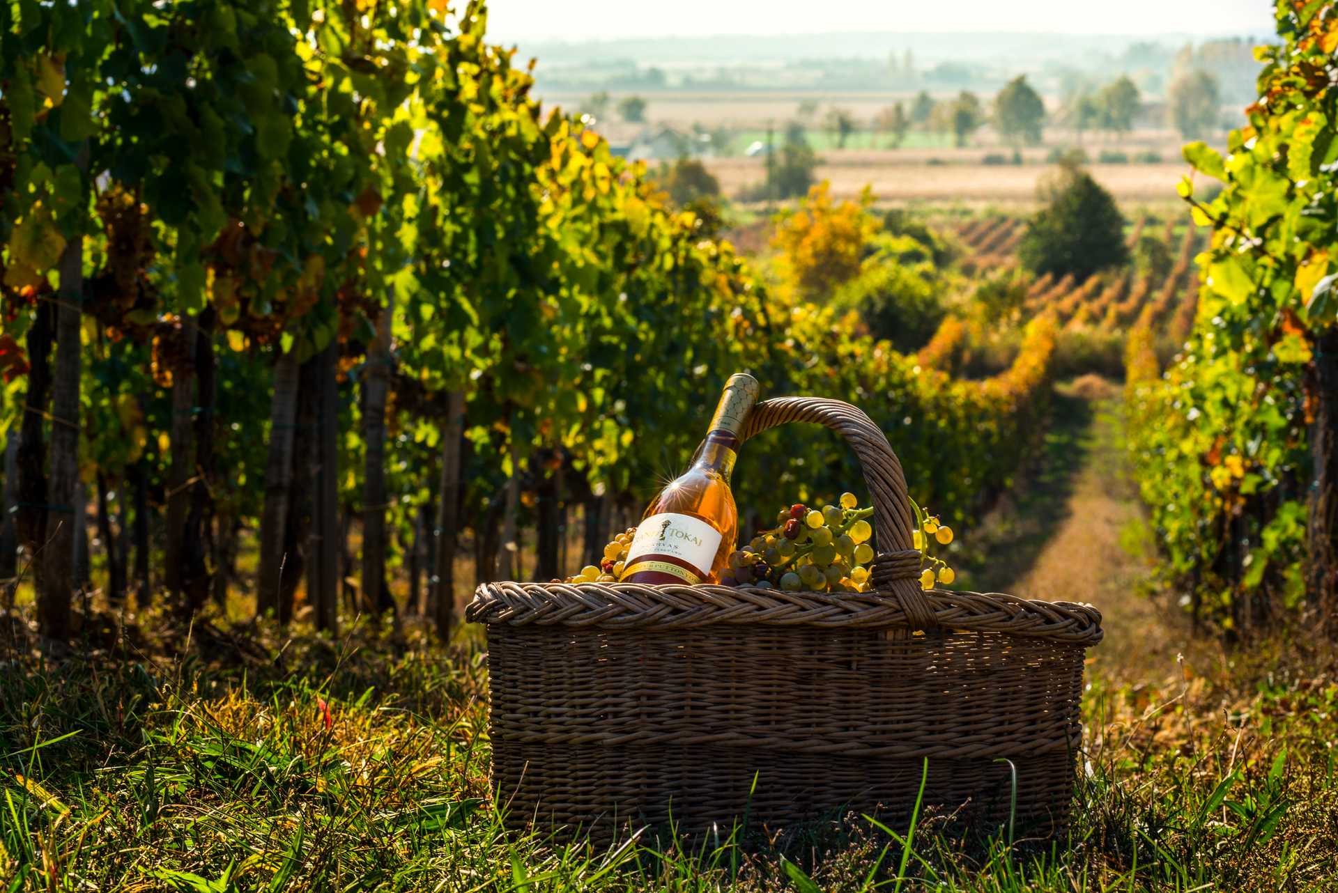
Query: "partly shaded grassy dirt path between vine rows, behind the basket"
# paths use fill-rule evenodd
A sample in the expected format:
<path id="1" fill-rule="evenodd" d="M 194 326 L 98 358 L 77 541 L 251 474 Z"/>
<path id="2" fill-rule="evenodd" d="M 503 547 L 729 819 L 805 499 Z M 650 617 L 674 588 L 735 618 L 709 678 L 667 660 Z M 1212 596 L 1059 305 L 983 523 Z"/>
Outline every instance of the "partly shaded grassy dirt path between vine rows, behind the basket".
<path id="1" fill-rule="evenodd" d="M 1206 668 L 1211 651 L 1153 587 L 1119 385 L 1085 376 L 1057 386 L 1045 453 L 1026 477 L 986 516 L 971 587 L 1094 604 L 1105 640 L 1090 670 L 1117 686 L 1179 676 L 1181 654 Z"/>

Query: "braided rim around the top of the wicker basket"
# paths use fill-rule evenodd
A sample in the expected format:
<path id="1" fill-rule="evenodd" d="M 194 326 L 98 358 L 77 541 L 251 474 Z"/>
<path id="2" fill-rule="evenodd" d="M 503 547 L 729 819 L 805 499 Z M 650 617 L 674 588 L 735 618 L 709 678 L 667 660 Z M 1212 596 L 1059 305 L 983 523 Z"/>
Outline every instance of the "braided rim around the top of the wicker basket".
<path id="1" fill-rule="evenodd" d="M 909 615 L 896 595 L 787 592 L 731 586 L 641 583 L 484 583 L 466 610 L 471 623 L 601 630 L 708 626 L 811 626 L 997 632 L 1090 647 L 1101 612 L 1080 602 L 1041 602 L 1005 592 L 929 590 L 929 618 Z"/>

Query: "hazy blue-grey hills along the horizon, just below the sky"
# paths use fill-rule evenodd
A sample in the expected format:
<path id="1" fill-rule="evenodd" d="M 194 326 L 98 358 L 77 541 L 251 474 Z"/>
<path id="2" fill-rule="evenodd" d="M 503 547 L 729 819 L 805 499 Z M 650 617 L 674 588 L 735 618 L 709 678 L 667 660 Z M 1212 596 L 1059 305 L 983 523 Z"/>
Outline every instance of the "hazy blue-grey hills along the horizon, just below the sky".
<path id="1" fill-rule="evenodd" d="M 1222 83 L 1224 103 L 1242 104 L 1254 98 L 1259 66 L 1251 47 L 1258 41 L 1185 33 L 868 32 L 523 41 L 518 49 L 539 60 L 539 92 L 550 96 L 665 90 L 993 94 L 1026 74 L 1050 96 L 1129 75 L 1145 96 L 1156 98 L 1177 71 L 1203 67 Z"/>

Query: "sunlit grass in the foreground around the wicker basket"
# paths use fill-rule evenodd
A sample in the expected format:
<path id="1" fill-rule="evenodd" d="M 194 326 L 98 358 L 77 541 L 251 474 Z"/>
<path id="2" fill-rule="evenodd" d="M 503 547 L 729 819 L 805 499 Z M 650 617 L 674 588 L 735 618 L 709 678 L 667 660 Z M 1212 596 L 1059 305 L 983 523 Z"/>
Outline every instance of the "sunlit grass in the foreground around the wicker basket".
<path id="1" fill-rule="evenodd" d="M 1086 696 L 1054 844 L 850 817 L 822 840 L 684 853 L 508 838 L 488 802 L 483 651 L 363 627 L 124 631 L 60 663 L 11 628 L 5 890 L 1334 889 L 1331 655 L 1268 646 Z M 183 636 L 185 631 L 177 631 Z"/>

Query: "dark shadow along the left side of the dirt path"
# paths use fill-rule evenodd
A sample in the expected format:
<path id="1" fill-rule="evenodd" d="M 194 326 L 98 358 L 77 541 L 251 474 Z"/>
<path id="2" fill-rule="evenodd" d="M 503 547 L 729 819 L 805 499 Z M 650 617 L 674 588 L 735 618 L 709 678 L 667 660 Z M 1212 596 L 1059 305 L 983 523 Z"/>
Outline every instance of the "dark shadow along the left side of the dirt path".
<path id="1" fill-rule="evenodd" d="M 1082 389 L 1056 386 L 1041 448 L 1018 472 L 1013 488 L 967 531 L 953 559 L 958 571 L 954 588 L 1006 591 L 1036 563 L 1066 517 L 1078 473 L 1096 448 L 1096 412 Z"/>

